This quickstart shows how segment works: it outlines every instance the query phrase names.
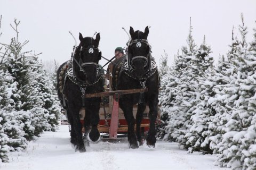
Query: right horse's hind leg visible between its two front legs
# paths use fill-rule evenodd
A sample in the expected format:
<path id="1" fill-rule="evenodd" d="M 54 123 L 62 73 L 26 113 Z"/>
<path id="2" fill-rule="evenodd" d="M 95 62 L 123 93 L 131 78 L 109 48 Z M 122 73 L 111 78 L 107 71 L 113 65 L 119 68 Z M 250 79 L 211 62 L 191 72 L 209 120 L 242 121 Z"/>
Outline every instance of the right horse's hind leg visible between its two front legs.
<path id="1" fill-rule="evenodd" d="M 146 104 L 138 104 L 137 114 L 136 114 L 136 135 L 140 146 L 143 145 L 143 140 L 141 139 L 141 121 L 143 118 L 143 112 L 146 109 Z"/>

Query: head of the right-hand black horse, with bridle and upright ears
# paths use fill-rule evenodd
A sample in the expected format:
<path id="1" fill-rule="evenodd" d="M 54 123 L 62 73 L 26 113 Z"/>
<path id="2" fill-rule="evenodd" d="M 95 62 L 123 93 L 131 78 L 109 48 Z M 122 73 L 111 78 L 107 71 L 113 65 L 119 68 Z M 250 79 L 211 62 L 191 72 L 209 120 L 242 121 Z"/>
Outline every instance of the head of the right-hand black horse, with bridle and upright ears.
<path id="1" fill-rule="evenodd" d="M 127 50 L 127 64 L 133 75 L 143 77 L 151 66 L 151 46 L 148 44 L 148 27 L 145 31 L 135 31 L 130 27 L 131 41 Z"/>

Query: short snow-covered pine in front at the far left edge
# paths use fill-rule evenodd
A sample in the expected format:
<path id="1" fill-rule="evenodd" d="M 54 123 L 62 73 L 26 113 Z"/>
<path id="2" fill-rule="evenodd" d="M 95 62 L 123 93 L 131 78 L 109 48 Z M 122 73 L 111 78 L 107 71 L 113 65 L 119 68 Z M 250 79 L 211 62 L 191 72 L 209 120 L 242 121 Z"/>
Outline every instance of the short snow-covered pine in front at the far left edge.
<path id="1" fill-rule="evenodd" d="M 1 67 L 1 66 L 0 66 Z M 19 101 L 19 93 L 17 93 L 17 82 L 5 69 L 0 71 L 0 110 L 2 115 L 2 130 L 9 138 L 7 145 L 10 150 L 20 150 L 27 146 L 27 140 L 23 137 L 23 122 L 18 120 L 17 115 L 22 115 L 23 111 L 15 111 L 15 100 Z M 13 100 L 15 99 L 15 100 Z"/>

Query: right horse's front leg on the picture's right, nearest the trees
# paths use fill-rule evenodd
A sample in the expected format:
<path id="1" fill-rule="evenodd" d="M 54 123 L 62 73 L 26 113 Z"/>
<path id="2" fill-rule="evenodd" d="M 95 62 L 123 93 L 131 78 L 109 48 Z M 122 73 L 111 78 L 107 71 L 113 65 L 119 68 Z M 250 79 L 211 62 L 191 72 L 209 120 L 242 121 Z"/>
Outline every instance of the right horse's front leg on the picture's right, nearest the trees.
<path id="1" fill-rule="evenodd" d="M 156 129 L 155 129 L 155 122 L 157 117 L 157 103 L 158 99 L 155 97 L 154 99 L 148 101 L 149 103 L 149 131 L 147 136 L 147 145 L 151 147 L 155 147 L 156 143 Z"/>

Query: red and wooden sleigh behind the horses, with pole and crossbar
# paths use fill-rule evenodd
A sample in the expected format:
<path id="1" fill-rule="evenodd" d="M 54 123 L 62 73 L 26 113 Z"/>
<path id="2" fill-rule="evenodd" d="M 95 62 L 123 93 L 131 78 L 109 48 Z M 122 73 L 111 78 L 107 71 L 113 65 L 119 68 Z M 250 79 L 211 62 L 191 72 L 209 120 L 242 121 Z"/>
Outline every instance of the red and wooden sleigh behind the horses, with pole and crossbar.
<path id="1" fill-rule="evenodd" d="M 105 78 L 109 79 L 109 75 L 105 75 Z M 110 77 L 111 80 L 111 77 Z M 109 81 L 111 82 L 111 81 Z M 99 116 L 100 121 L 98 124 L 98 130 L 101 133 L 102 138 L 110 138 L 110 139 L 116 139 L 119 137 L 124 137 L 127 134 L 128 125 L 124 117 L 124 113 L 121 108 L 119 108 L 118 100 L 120 95 L 125 94 L 134 94 L 139 92 L 146 92 L 147 89 L 127 89 L 127 90 L 111 90 L 111 83 L 109 84 L 108 89 L 105 89 L 105 92 L 100 92 L 97 94 L 87 94 L 85 97 L 108 97 L 109 102 L 108 103 L 101 103 Z M 137 105 L 133 106 L 133 116 L 136 117 L 137 113 Z M 85 109 L 82 108 L 79 115 L 80 120 L 82 123 L 84 123 L 84 117 L 85 117 Z M 160 121 L 160 112 L 159 112 L 159 106 L 158 106 L 158 114 L 157 114 L 157 121 L 156 124 L 159 124 Z M 135 125 L 136 130 L 136 125 Z M 147 106 L 144 113 L 143 113 L 143 119 L 141 122 L 141 133 L 142 136 L 145 135 L 149 130 L 149 107 Z M 83 130 L 82 130 L 83 132 Z"/>

